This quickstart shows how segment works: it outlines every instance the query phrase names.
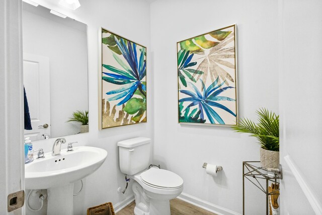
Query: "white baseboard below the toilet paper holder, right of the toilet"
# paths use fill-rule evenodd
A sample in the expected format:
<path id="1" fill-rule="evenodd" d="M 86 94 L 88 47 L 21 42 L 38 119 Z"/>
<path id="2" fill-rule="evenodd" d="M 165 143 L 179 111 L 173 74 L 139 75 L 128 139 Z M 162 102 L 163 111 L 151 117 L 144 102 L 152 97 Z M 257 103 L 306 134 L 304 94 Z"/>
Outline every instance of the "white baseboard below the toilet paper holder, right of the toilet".
<path id="1" fill-rule="evenodd" d="M 234 212 L 232 210 L 229 210 L 224 207 L 220 207 L 218 205 L 215 205 L 213 203 L 210 203 L 208 201 L 204 201 L 200 198 L 196 198 L 192 195 L 186 194 L 186 193 L 181 193 L 177 198 L 186 201 L 190 204 L 193 204 L 197 207 L 200 207 L 202 209 L 208 210 L 210 212 L 216 213 L 218 215 L 240 215 L 237 212 Z"/>

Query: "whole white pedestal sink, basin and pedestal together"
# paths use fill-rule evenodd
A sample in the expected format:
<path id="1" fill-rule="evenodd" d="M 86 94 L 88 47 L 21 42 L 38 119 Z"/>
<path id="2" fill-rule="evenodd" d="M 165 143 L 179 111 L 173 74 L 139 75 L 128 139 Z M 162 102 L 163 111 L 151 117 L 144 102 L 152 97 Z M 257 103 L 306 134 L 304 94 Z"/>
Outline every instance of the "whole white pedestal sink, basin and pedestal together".
<path id="1" fill-rule="evenodd" d="M 107 152 L 95 147 L 74 147 L 25 165 L 26 189 L 48 191 L 48 215 L 73 215 L 73 183 L 95 172 L 105 161 Z"/>

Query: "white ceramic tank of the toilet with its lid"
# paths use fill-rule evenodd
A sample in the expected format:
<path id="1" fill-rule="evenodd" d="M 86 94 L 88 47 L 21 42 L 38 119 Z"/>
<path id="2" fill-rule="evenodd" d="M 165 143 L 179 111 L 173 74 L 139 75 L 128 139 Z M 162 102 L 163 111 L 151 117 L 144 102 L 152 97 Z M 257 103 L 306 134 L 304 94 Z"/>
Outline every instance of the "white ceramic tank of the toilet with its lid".
<path id="1" fill-rule="evenodd" d="M 136 137 L 122 140 L 117 143 L 122 173 L 135 175 L 148 167 L 150 159 L 150 142 L 150 138 Z"/>

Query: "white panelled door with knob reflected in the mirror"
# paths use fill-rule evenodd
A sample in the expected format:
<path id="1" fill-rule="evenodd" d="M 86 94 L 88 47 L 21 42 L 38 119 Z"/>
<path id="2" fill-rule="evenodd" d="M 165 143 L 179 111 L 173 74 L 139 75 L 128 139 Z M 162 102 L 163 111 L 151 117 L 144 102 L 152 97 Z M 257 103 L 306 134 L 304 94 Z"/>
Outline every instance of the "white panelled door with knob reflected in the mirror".
<path id="1" fill-rule="evenodd" d="M 32 130 L 25 137 L 33 140 L 50 136 L 49 58 L 24 53 L 24 86 L 26 90 Z"/>

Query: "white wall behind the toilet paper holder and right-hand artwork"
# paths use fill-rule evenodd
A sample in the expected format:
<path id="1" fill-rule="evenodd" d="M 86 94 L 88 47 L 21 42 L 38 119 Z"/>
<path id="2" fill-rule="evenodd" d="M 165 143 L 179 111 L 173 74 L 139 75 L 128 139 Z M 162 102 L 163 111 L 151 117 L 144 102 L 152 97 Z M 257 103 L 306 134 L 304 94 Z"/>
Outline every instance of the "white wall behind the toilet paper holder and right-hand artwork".
<path id="1" fill-rule="evenodd" d="M 177 123 L 176 42 L 236 23 L 239 114 L 256 119 L 260 107 L 278 113 L 277 1 L 163 0 L 150 10 L 154 163 L 179 174 L 184 193 L 241 213 L 242 162 L 258 161 L 259 145 L 228 127 Z M 212 178 L 204 162 L 221 165 L 223 171 Z M 265 194 L 248 188 L 247 214 L 264 213 Z"/>

